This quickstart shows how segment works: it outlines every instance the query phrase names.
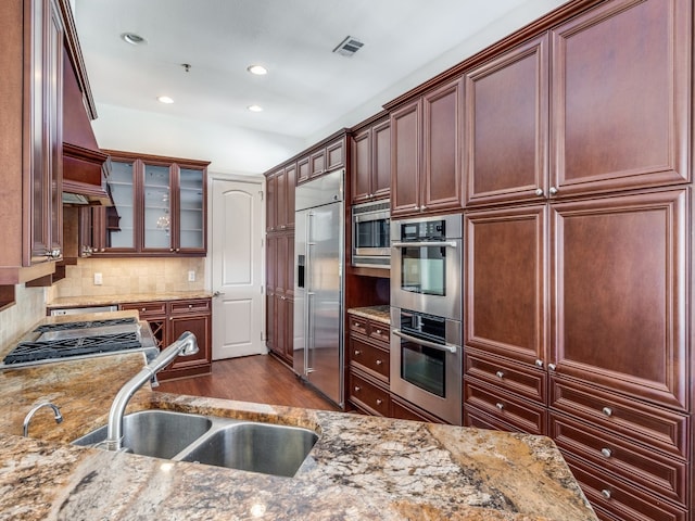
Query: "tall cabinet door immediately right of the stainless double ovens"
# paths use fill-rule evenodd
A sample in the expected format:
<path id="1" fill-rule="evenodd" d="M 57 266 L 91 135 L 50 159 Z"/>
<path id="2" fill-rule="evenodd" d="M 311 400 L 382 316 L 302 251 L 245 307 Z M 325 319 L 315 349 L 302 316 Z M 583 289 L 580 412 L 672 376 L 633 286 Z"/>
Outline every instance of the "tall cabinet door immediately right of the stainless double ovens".
<path id="1" fill-rule="evenodd" d="M 465 216 L 466 345 L 546 359 L 546 205 Z"/>

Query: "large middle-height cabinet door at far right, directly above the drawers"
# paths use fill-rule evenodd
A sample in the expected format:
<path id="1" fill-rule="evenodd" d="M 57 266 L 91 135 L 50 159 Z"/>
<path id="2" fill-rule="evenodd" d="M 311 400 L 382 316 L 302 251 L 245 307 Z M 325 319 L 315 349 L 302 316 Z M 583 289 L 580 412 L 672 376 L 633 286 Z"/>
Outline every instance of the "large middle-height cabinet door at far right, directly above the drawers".
<path id="1" fill-rule="evenodd" d="M 558 373 L 687 409 L 686 191 L 551 208 Z"/>

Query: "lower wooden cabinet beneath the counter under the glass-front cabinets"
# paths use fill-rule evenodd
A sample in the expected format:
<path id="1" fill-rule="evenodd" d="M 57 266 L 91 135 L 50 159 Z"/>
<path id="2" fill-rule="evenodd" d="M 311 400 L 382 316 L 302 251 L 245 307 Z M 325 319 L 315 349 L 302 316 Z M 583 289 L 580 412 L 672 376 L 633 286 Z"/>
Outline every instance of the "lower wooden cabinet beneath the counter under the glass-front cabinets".
<path id="1" fill-rule="evenodd" d="M 137 309 L 147 320 L 157 346 L 163 350 L 186 331 L 198 340 L 198 353 L 179 356 L 157 373 L 159 380 L 208 374 L 212 367 L 212 301 L 191 298 L 180 301 L 129 302 L 121 309 Z"/>

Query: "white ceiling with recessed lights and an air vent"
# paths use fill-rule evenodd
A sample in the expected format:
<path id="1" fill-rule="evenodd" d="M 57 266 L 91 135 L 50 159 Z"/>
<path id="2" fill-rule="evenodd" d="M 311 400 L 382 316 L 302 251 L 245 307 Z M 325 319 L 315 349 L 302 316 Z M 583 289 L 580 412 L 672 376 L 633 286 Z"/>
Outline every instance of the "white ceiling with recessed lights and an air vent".
<path id="1" fill-rule="evenodd" d="M 306 139 L 510 11 L 533 2 L 73 3 L 98 104 Z M 147 45 L 124 42 L 119 36 L 126 31 L 142 36 Z M 332 53 L 349 35 L 363 41 L 364 47 L 352 58 Z M 184 63 L 191 65 L 189 73 Z M 256 63 L 269 73 L 262 77 L 249 74 L 247 67 Z M 172 97 L 175 103 L 157 102 L 161 94 Z M 250 113 L 247 106 L 251 104 L 262 105 L 264 112 Z"/>

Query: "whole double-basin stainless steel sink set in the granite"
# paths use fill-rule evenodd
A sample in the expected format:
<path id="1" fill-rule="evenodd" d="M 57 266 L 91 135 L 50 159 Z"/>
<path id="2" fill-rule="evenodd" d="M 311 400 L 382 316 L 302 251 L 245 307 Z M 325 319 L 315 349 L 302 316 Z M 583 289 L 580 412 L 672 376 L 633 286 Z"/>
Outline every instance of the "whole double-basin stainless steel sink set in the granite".
<path id="1" fill-rule="evenodd" d="M 96 446 L 108 425 L 75 440 Z M 123 447 L 142 456 L 293 476 L 318 440 L 299 427 L 168 410 L 142 410 L 123 417 Z"/>

